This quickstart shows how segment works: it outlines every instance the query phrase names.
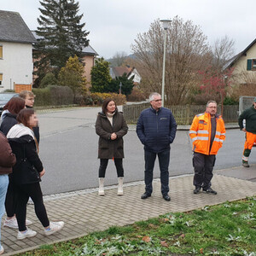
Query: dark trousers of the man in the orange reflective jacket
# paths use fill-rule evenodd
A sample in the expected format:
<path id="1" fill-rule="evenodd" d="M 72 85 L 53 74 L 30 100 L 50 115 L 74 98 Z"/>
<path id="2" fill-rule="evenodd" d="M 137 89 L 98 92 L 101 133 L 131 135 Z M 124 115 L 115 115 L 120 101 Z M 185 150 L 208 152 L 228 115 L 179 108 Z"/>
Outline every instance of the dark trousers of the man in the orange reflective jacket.
<path id="1" fill-rule="evenodd" d="M 195 187 L 202 187 L 203 189 L 209 189 L 211 187 L 213 177 L 212 170 L 215 160 L 215 154 L 207 155 L 194 152 L 193 166 L 195 171 Z"/>

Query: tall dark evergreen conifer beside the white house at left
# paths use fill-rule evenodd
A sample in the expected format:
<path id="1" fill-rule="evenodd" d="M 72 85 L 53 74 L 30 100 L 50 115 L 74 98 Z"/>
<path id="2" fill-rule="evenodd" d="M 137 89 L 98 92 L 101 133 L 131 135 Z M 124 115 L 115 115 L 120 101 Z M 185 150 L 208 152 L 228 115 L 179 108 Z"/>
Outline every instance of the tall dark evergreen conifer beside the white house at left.
<path id="1" fill-rule="evenodd" d="M 80 23 L 79 3 L 75 0 L 42 0 L 38 18 L 38 44 L 34 57 L 38 82 L 45 72 L 58 73 L 70 56 L 82 56 L 82 49 L 89 44 L 89 32 Z"/>

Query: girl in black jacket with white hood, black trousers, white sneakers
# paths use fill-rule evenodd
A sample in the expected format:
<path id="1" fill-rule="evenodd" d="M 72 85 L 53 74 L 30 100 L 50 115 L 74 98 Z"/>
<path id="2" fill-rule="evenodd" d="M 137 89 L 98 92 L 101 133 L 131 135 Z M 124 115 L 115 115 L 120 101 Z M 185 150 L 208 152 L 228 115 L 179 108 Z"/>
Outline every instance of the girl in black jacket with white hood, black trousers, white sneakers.
<path id="1" fill-rule="evenodd" d="M 32 127 L 38 124 L 38 119 L 32 108 L 25 108 L 18 114 L 17 121 L 18 124 L 7 134 L 17 160 L 13 167 L 13 179 L 17 191 L 16 218 L 19 225 L 17 239 L 37 235 L 36 231 L 26 228 L 26 203 L 29 197 L 32 198 L 36 215 L 44 226 L 44 235 L 49 236 L 61 230 L 64 222 L 49 222 L 44 207 L 39 182 L 45 171 L 38 157 L 38 143 L 32 131 Z"/>

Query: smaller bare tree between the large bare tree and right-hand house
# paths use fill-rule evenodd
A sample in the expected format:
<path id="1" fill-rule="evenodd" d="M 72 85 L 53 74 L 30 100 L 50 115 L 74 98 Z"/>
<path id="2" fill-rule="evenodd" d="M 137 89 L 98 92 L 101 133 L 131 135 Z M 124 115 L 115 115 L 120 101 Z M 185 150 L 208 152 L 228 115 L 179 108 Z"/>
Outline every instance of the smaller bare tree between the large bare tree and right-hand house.
<path id="1" fill-rule="evenodd" d="M 212 67 L 222 71 L 224 64 L 235 55 L 235 41 L 227 35 L 217 39 L 212 46 Z"/>

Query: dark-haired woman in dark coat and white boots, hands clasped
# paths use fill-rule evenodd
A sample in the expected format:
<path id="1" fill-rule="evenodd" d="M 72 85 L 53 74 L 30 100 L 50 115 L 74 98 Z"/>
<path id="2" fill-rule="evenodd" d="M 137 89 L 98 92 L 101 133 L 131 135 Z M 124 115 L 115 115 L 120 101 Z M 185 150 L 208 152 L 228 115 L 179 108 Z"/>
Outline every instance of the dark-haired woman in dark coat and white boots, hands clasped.
<path id="1" fill-rule="evenodd" d="M 99 168 L 99 195 L 104 194 L 104 177 L 108 160 L 113 159 L 118 175 L 118 195 L 123 195 L 124 141 L 123 136 L 128 131 L 123 113 L 118 111 L 113 99 L 106 99 L 102 104 L 102 112 L 96 119 L 96 134 L 99 138 L 98 158 L 101 160 Z"/>

